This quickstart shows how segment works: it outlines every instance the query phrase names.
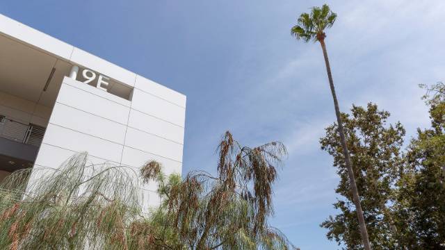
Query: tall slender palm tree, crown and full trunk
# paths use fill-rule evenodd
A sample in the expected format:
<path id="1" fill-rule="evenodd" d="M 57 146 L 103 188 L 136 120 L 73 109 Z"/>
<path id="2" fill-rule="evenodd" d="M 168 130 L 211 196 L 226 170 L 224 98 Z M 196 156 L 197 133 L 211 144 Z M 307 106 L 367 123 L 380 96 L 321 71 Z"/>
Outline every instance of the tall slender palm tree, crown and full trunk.
<path id="1" fill-rule="evenodd" d="M 341 139 L 341 147 L 343 148 L 343 154 L 345 156 L 346 168 L 348 169 L 348 176 L 350 180 L 350 190 L 353 193 L 353 199 L 355 203 L 355 210 L 357 211 L 357 217 L 359 220 L 360 233 L 362 235 L 362 242 L 364 249 L 371 249 L 369 244 L 368 231 L 366 231 L 366 224 L 364 222 L 363 210 L 360 205 L 359 192 L 355 183 L 355 177 L 353 172 L 353 166 L 350 163 L 350 156 L 348 147 L 346 146 L 345 133 L 343 131 L 343 123 L 341 122 L 341 113 L 339 103 L 337 101 L 337 95 L 335 94 L 334 81 L 332 80 L 331 68 L 329 65 L 329 59 L 327 58 L 326 44 L 325 44 L 325 28 L 330 28 L 335 22 L 337 14 L 332 12 L 326 4 L 320 7 L 313 7 L 310 13 L 302 13 L 298 18 L 298 24 L 291 28 L 291 34 L 295 36 L 297 40 L 303 40 L 309 42 L 320 42 L 321 49 L 323 49 L 323 56 L 325 57 L 327 78 L 329 78 L 329 85 L 332 92 L 332 98 L 334 99 L 335 115 L 337 115 L 337 122 L 339 124 L 339 134 Z"/>

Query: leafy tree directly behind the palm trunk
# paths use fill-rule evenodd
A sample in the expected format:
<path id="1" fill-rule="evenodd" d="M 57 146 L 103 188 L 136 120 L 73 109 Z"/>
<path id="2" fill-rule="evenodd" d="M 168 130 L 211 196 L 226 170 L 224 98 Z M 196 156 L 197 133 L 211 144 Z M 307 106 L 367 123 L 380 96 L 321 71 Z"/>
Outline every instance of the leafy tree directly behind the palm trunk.
<path id="1" fill-rule="evenodd" d="M 401 147 L 405 130 L 399 122 L 387 125 L 388 117 L 388 112 L 378 110 L 373 103 L 366 108 L 353 106 L 350 115 L 342 113 L 346 143 L 355 166 L 357 188 L 373 249 L 400 247 L 391 203 L 396 196 L 393 187 L 403 168 Z M 349 192 L 346 158 L 337 130 L 338 124 L 328 126 L 320 142 L 321 148 L 333 156 L 334 167 L 340 176 L 336 192 L 341 198 L 334 203 L 334 208 L 341 213 L 330 216 L 321 226 L 328 229 L 328 239 L 344 244 L 347 249 L 362 249 L 361 237 L 356 230 L 359 222 Z"/>

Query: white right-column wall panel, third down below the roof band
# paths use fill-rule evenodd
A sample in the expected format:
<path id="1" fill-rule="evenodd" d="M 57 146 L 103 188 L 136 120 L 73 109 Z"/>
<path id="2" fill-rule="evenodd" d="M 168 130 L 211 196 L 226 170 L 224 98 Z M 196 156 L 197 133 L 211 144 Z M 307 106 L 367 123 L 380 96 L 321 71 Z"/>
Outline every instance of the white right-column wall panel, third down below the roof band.
<path id="1" fill-rule="evenodd" d="M 125 145 L 182 162 L 183 146 L 181 144 L 150 135 L 143 131 L 138 131 L 134 128 L 127 129 Z"/>

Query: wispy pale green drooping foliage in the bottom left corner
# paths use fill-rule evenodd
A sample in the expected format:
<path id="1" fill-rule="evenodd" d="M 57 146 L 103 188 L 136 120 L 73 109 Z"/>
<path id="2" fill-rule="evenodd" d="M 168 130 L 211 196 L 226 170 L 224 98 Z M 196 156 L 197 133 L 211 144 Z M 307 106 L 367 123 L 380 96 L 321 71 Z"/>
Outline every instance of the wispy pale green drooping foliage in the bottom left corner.
<path id="1" fill-rule="evenodd" d="M 136 172 L 87 159 L 81 153 L 2 183 L 0 249 L 128 249 L 126 228 L 140 215 Z"/>

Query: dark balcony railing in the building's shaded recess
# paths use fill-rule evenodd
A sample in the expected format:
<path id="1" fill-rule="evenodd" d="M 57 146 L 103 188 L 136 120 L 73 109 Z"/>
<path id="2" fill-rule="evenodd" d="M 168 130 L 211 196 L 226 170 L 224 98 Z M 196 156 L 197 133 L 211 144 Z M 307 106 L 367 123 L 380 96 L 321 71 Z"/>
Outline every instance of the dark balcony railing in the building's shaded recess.
<path id="1" fill-rule="evenodd" d="M 23 124 L 0 115 L 0 138 L 40 147 L 45 128 L 35 124 Z"/>

